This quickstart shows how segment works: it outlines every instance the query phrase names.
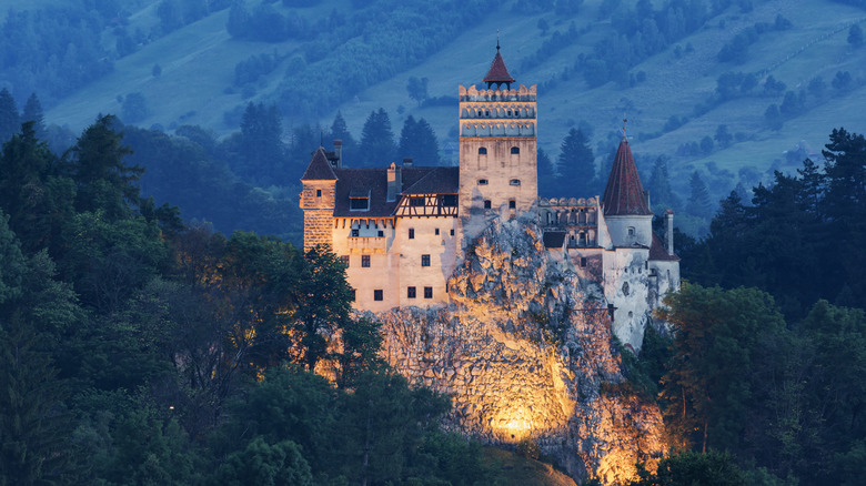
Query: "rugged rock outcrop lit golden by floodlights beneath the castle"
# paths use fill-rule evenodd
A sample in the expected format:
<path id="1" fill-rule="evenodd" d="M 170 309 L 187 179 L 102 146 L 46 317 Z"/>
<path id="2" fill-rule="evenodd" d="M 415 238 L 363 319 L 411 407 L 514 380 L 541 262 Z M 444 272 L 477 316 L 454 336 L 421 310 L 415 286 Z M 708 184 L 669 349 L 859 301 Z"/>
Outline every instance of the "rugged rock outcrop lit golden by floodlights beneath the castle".
<path id="1" fill-rule="evenodd" d="M 534 220 L 494 222 L 449 293 L 447 308 L 377 314 L 389 362 L 453 397 L 446 428 L 491 444 L 532 438 L 575 478 L 605 484 L 662 453 L 658 409 L 616 392 L 602 286 L 551 261 Z"/>

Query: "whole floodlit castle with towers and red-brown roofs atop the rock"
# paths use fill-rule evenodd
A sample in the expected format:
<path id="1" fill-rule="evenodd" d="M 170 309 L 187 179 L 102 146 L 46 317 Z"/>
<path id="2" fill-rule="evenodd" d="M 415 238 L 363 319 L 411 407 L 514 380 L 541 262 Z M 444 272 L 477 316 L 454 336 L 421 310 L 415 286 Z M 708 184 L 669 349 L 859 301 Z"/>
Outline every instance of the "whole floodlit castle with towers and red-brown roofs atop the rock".
<path id="1" fill-rule="evenodd" d="M 558 264 L 601 285 L 614 333 L 640 348 L 650 313 L 679 287 L 673 212 L 663 240 L 625 134 L 601 200 L 540 199 L 536 87 L 512 88 L 499 45 L 483 82 L 459 88 L 459 166 L 351 169 L 339 141 L 320 148 L 301 178 L 304 249 L 340 255 L 355 310 L 447 305 L 472 242 L 497 217 L 528 215 Z"/>

